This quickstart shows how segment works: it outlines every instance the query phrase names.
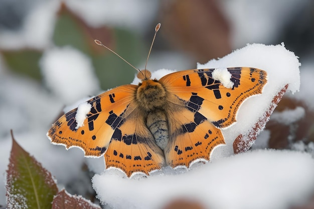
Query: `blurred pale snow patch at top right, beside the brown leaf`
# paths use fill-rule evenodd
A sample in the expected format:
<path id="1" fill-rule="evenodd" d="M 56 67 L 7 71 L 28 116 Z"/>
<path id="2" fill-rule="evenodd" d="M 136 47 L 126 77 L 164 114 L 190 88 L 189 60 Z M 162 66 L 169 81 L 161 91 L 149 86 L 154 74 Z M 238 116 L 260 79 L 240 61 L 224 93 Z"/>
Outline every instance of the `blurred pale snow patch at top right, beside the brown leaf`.
<path id="1" fill-rule="evenodd" d="M 234 48 L 247 43 L 271 44 L 296 15 L 304 13 L 308 0 L 220 1 L 231 30 Z"/>

